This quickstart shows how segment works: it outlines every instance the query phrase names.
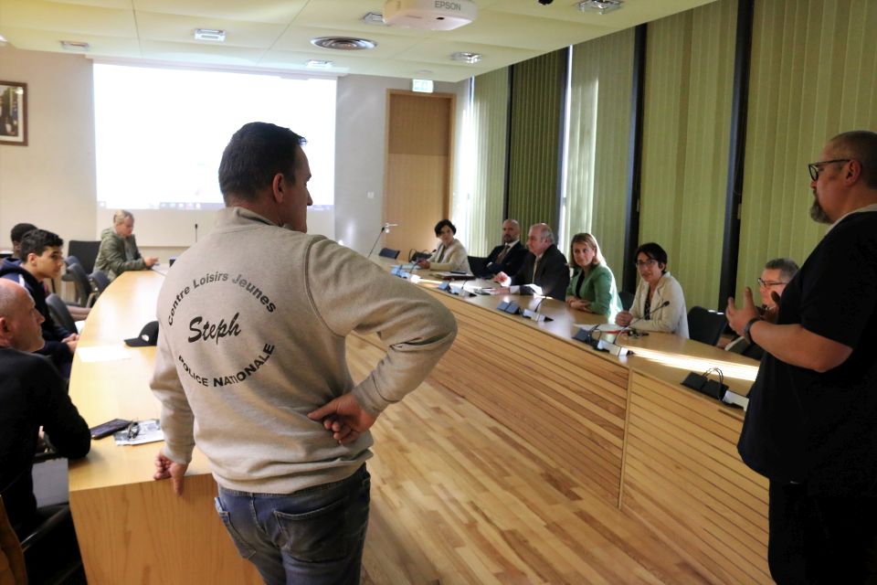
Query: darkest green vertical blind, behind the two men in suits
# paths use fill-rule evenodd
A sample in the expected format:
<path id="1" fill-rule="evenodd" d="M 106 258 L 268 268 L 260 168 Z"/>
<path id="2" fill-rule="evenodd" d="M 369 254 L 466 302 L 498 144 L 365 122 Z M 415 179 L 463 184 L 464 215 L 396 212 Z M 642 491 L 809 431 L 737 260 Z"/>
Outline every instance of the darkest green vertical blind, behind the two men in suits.
<path id="1" fill-rule="evenodd" d="M 512 66 L 509 217 L 522 237 L 544 221 L 557 230 L 558 163 L 567 50 Z"/>

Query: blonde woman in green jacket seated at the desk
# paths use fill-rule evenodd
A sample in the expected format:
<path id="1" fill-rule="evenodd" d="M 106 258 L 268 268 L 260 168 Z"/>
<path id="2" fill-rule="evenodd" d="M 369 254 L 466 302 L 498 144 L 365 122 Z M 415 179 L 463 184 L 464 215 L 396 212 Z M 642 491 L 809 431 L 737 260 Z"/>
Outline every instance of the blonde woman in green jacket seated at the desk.
<path id="1" fill-rule="evenodd" d="M 606 265 L 597 238 L 576 234 L 569 246 L 573 278 L 566 287 L 566 304 L 586 313 L 605 314 L 609 320 L 621 310 L 615 276 Z"/>

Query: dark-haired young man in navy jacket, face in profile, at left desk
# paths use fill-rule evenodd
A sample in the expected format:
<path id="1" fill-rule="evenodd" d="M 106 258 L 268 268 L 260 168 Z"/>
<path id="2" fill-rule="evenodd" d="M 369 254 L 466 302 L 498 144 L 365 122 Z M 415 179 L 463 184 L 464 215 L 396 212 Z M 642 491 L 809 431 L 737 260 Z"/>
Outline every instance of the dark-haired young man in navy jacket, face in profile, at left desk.
<path id="1" fill-rule="evenodd" d="M 6 259 L 0 267 L 0 278 L 17 282 L 25 287 L 43 316 L 43 340 L 45 344 L 37 350 L 38 354 L 49 356 L 64 378 L 70 377 L 73 352 L 79 335 L 56 324 L 48 313 L 46 288 L 43 281 L 58 278 L 64 259 L 61 246 L 64 240 L 45 229 L 33 229 L 21 239 L 20 261 Z"/>

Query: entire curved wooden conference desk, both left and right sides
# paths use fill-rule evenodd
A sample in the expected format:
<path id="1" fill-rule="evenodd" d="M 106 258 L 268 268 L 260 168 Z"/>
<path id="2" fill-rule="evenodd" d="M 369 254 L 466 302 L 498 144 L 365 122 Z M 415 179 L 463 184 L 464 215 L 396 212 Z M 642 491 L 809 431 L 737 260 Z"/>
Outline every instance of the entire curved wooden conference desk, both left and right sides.
<path id="1" fill-rule="evenodd" d="M 163 280 L 149 271 L 122 274 L 95 306 L 80 346 L 136 335 L 154 318 Z M 742 412 L 679 384 L 689 370 L 719 366 L 746 393 L 755 362 L 665 334 L 626 341 L 633 356 L 608 356 L 571 339 L 576 323 L 598 319 L 564 303 L 544 301 L 540 311 L 554 321 L 534 323 L 496 311 L 502 297 L 428 290 L 460 325 L 433 385 L 466 398 L 650 527 L 699 580 L 769 582 L 766 481 L 736 453 Z M 380 346 L 375 336 L 365 339 Z M 149 389 L 154 348 L 128 351 L 131 359 L 118 362 L 74 359 L 71 397 L 90 424 L 158 416 Z M 260 582 L 217 518 L 203 455 L 195 451 L 177 498 L 151 479 L 159 444 L 117 447 L 102 439 L 86 460 L 71 463 L 70 503 L 90 582 Z"/>

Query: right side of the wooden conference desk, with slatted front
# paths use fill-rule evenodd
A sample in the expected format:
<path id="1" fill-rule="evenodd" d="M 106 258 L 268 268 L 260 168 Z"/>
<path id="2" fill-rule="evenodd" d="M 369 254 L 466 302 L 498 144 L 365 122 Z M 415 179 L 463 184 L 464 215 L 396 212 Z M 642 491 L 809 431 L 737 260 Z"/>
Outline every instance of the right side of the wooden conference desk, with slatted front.
<path id="1" fill-rule="evenodd" d="M 386 265 L 386 262 L 380 262 Z M 430 381 L 469 400 L 548 453 L 558 468 L 650 527 L 706 580 L 771 582 L 767 481 L 740 460 L 743 411 L 682 386 L 689 371 L 719 367 L 748 394 L 757 362 L 677 335 L 622 343 L 614 357 L 572 339 L 604 317 L 554 299 L 439 292 L 459 334 Z M 430 282 L 431 281 L 431 282 Z M 487 282 L 475 284 L 490 285 Z M 512 300 L 553 318 L 503 314 Z M 370 339 L 379 344 L 375 338 Z"/>

